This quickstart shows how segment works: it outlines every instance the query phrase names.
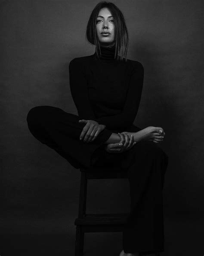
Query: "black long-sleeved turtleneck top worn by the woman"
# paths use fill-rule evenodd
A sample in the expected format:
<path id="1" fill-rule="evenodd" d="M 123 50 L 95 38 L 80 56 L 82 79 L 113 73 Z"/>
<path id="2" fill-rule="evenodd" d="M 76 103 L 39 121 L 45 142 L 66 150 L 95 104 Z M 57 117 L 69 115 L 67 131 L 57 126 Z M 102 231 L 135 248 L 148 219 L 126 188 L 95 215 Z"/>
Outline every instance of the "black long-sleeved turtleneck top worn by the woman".
<path id="1" fill-rule="evenodd" d="M 70 90 L 80 119 L 95 120 L 111 131 L 138 131 L 134 119 L 142 94 L 144 69 L 140 62 L 114 59 L 114 47 L 69 64 Z M 126 130 L 128 129 L 129 130 Z"/>

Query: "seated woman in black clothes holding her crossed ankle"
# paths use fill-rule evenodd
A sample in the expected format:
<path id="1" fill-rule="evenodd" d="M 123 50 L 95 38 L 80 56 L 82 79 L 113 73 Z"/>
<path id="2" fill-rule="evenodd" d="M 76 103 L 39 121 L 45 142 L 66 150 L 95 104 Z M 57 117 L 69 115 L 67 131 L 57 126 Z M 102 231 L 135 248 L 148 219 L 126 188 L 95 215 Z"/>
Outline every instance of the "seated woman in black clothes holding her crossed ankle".
<path id="1" fill-rule="evenodd" d="M 69 64 L 70 89 L 78 115 L 53 106 L 28 112 L 31 133 L 81 166 L 121 166 L 130 182 L 131 211 L 120 256 L 164 250 L 162 189 L 167 154 L 158 147 L 161 127 L 133 125 L 141 99 L 144 69 L 127 59 L 128 32 L 114 3 L 100 2 L 87 24 L 93 55 Z"/>

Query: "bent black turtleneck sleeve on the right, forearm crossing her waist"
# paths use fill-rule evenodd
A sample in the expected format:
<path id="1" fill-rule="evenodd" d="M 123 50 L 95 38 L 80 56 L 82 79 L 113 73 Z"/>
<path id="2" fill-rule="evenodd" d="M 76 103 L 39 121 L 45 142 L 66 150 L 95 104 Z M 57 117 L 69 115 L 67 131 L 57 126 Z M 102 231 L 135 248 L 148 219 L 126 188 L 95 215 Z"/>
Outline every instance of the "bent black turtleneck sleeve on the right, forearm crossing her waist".
<path id="1" fill-rule="evenodd" d="M 97 118 L 99 124 L 106 125 L 107 129 L 123 129 L 133 124 L 142 95 L 144 80 L 144 68 L 141 63 L 137 62 L 136 67 L 130 75 L 130 84 L 127 91 L 124 109 L 120 114 Z"/>

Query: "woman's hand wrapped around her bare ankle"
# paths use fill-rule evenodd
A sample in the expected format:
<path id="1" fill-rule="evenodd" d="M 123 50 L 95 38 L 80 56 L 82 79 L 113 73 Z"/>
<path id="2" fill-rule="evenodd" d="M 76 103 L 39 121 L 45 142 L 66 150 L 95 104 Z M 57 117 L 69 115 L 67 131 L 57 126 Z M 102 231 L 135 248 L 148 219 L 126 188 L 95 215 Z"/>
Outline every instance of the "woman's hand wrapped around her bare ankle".
<path id="1" fill-rule="evenodd" d="M 114 144 L 107 144 L 105 147 L 105 150 L 109 153 L 121 153 L 124 151 L 129 150 L 132 148 L 136 142 L 134 142 L 133 136 L 128 136 L 127 134 L 124 133 L 118 133 L 118 135 L 121 137 L 121 141 L 119 143 L 114 143 Z"/>

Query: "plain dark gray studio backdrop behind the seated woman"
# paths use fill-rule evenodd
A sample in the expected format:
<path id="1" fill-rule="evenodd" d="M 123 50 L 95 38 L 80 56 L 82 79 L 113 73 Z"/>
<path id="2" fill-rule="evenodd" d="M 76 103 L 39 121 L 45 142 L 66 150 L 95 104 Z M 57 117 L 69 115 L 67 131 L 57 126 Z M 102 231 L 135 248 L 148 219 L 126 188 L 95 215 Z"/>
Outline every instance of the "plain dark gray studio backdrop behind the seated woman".
<path id="1" fill-rule="evenodd" d="M 176 255 L 175 251 L 168 254 L 174 250 L 175 233 L 179 236 L 183 227 L 192 231 L 204 215 L 202 1 L 113 2 L 127 22 L 128 58 L 141 62 L 145 70 L 134 123 L 140 128 L 161 126 L 166 133 L 160 144 L 169 155 L 164 186 L 165 255 Z M 63 233 L 66 242 L 58 250 L 64 252 L 70 243 L 66 247 L 72 250 L 70 255 L 74 250 L 80 171 L 31 135 L 26 116 L 29 109 L 39 105 L 77 114 L 69 89 L 68 64 L 95 51 L 85 41 L 85 31 L 97 3 L 0 1 L 2 234 Z M 127 180 L 90 181 L 88 213 L 127 212 L 129 205 Z M 184 218 L 198 222 L 186 227 L 189 221 L 182 222 Z M 109 250 L 115 253 L 122 250 L 121 240 L 114 244 L 119 236 L 105 234 L 107 243 L 112 239 Z M 198 240 L 201 235 L 195 236 Z M 93 239 L 99 243 L 96 235 Z M 177 245 L 176 251 L 184 247 Z M 95 248 L 90 242 L 87 248 L 91 255 L 99 244 Z M 189 251 L 186 249 L 185 255 Z"/>

